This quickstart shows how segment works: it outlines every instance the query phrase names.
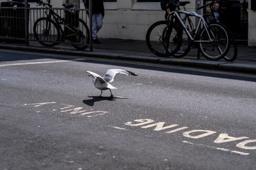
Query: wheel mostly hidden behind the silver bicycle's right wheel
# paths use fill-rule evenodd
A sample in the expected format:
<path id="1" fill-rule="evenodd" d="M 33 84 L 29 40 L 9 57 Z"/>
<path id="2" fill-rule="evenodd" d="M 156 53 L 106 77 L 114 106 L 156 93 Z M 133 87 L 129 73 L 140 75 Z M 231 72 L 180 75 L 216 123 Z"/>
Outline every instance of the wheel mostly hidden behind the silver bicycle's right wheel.
<path id="1" fill-rule="evenodd" d="M 230 35 L 230 48 L 228 50 L 228 53 L 224 56 L 224 59 L 229 62 L 232 62 L 236 60 L 237 57 L 237 44 L 232 32 L 230 32 L 230 30 L 228 31 Z"/>

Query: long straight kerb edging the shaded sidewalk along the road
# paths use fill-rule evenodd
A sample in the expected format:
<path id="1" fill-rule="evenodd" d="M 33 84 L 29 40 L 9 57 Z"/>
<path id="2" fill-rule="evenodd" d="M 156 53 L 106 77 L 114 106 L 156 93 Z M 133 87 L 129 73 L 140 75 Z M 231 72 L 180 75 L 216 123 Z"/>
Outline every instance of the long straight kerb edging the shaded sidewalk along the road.
<path id="1" fill-rule="evenodd" d="M 197 59 L 177 59 L 177 58 L 159 58 L 143 55 L 129 55 L 124 53 L 109 53 L 109 52 L 86 52 L 86 51 L 73 51 L 63 49 L 47 49 L 35 46 L 11 46 L 0 45 L 1 49 L 6 50 L 21 50 L 26 52 L 44 52 L 44 53 L 57 53 L 63 55 L 77 55 L 80 57 L 97 57 L 108 59 L 122 59 L 122 60 L 137 60 L 144 62 L 154 62 L 160 64 L 170 64 L 175 66 L 189 66 L 189 67 L 201 67 L 206 69 L 218 69 L 223 71 L 234 71 L 240 73 L 256 74 L 255 64 L 239 64 L 230 63 L 225 61 L 210 61 L 210 60 L 197 60 Z"/>

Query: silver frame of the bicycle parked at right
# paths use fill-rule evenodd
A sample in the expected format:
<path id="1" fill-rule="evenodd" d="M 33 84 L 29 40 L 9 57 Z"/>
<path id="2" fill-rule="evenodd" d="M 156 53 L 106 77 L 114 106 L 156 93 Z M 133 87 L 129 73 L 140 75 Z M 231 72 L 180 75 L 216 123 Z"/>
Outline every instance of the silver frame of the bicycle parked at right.
<path id="1" fill-rule="evenodd" d="M 184 15 L 188 15 L 189 17 L 196 17 L 196 18 L 200 18 L 197 26 L 196 26 L 196 31 L 195 31 L 195 36 L 192 36 L 191 33 L 188 31 L 188 28 L 186 27 L 186 25 L 184 24 L 182 18 L 180 17 L 180 14 L 184 14 Z M 177 10 L 177 11 L 172 11 L 169 13 L 168 15 L 168 19 L 172 20 L 172 17 L 177 17 L 180 24 L 182 25 L 184 31 L 186 32 L 186 34 L 188 35 L 189 39 L 195 43 L 211 43 L 213 40 L 210 36 L 210 33 L 208 31 L 208 25 L 204 20 L 204 17 L 202 15 L 199 15 L 198 13 L 195 12 L 189 12 L 189 11 L 184 11 L 184 10 Z M 196 36 L 198 35 L 198 32 L 200 31 L 200 27 L 201 25 L 203 25 L 203 27 L 205 27 L 208 37 L 209 37 L 209 41 L 200 41 L 200 40 L 196 40 Z"/>

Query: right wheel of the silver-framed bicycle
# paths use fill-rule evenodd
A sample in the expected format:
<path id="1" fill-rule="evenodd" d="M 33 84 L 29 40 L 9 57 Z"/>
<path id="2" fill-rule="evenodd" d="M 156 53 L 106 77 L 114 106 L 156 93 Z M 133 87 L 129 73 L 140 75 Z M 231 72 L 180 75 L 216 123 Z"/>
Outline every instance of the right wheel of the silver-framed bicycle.
<path id="1" fill-rule="evenodd" d="M 207 24 L 207 29 L 200 32 L 199 48 L 202 55 L 209 60 L 220 60 L 228 52 L 230 48 L 230 37 L 228 31 L 223 24 L 212 22 Z M 210 41 L 211 36 L 212 41 Z"/>

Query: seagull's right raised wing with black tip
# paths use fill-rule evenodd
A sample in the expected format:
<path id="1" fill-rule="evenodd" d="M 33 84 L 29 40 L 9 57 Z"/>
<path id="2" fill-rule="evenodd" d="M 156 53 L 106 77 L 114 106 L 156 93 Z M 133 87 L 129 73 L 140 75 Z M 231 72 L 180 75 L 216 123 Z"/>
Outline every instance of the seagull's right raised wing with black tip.
<path id="1" fill-rule="evenodd" d="M 106 73 L 104 74 L 103 78 L 106 80 L 108 83 L 111 83 L 114 81 L 115 75 L 116 74 L 123 74 L 123 75 L 132 75 L 132 76 L 138 76 L 138 74 L 133 73 L 131 71 L 127 71 L 124 69 L 108 69 Z"/>

